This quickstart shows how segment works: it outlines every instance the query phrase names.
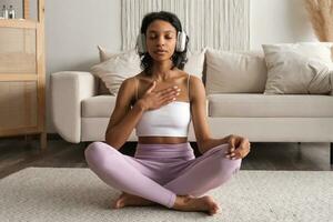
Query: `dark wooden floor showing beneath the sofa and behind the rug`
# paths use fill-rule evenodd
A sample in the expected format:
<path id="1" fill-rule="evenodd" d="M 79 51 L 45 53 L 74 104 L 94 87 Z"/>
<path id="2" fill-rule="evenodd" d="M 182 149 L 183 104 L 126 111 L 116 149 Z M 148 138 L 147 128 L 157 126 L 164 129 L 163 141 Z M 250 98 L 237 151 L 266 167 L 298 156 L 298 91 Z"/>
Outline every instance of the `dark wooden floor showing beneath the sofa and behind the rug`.
<path id="1" fill-rule="evenodd" d="M 48 150 L 40 152 L 38 141 L 0 139 L 0 179 L 28 167 L 87 168 L 83 154 L 87 144 L 53 139 L 48 141 Z M 135 143 L 127 143 L 120 151 L 132 155 L 134 148 Z M 330 143 L 252 143 L 251 148 L 243 160 L 243 170 L 333 170 Z"/>

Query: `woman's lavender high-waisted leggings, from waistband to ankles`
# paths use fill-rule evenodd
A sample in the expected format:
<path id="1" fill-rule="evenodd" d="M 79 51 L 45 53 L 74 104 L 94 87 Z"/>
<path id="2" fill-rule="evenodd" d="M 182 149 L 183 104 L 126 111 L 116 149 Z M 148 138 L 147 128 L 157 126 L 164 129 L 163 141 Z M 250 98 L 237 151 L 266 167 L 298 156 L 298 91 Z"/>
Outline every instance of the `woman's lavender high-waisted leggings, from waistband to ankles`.
<path id="1" fill-rule="evenodd" d="M 85 149 L 90 169 L 107 184 L 172 208 L 176 195 L 200 196 L 240 170 L 241 160 L 225 158 L 229 144 L 195 159 L 190 143 L 140 144 L 134 158 L 103 142 Z"/>

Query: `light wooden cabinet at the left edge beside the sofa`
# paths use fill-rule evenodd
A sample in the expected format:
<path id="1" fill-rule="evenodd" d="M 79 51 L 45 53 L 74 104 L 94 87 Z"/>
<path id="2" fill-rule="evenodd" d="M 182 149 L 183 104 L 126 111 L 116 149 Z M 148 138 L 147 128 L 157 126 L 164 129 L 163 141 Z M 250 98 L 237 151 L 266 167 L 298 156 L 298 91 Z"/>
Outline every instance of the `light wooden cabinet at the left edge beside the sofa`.
<path id="1" fill-rule="evenodd" d="M 46 134 L 44 0 L 22 1 L 22 17 L 0 19 L 0 137 Z"/>

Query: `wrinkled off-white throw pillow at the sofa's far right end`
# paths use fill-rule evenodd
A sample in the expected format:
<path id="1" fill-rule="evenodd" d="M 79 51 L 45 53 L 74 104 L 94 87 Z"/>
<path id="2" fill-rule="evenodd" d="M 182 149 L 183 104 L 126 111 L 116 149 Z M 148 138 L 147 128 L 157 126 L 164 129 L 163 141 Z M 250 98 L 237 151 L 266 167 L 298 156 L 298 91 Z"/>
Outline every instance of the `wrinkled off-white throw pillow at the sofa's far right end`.
<path id="1" fill-rule="evenodd" d="M 264 94 L 330 92 L 332 43 L 300 42 L 262 47 L 268 65 Z"/>

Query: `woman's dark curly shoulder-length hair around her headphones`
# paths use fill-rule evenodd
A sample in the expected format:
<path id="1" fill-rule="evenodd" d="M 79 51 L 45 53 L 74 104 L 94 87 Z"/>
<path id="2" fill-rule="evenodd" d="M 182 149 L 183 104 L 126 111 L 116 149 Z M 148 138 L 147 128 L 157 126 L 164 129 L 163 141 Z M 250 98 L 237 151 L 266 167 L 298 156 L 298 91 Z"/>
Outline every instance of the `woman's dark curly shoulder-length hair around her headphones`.
<path id="1" fill-rule="evenodd" d="M 168 11 L 159 11 L 159 12 L 150 12 L 144 16 L 144 18 L 142 20 L 140 33 L 145 34 L 148 27 L 155 20 L 163 20 L 163 21 L 171 23 L 175 28 L 176 32 L 183 31 L 182 24 L 181 24 L 179 18 L 174 13 L 171 13 Z M 185 50 L 183 52 L 174 51 L 174 53 L 171 58 L 173 65 L 181 70 L 184 69 L 184 65 L 188 62 L 188 57 L 186 57 L 188 44 L 189 44 L 189 37 L 186 37 Z M 149 69 L 153 64 L 153 59 L 151 58 L 151 56 L 148 52 L 144 52 L 144 53 L 138 52 L 138 53 L 141 59 L 141 68 L 147 73 L 150 73 Z"/>

